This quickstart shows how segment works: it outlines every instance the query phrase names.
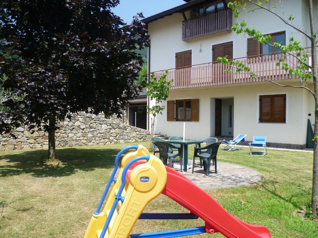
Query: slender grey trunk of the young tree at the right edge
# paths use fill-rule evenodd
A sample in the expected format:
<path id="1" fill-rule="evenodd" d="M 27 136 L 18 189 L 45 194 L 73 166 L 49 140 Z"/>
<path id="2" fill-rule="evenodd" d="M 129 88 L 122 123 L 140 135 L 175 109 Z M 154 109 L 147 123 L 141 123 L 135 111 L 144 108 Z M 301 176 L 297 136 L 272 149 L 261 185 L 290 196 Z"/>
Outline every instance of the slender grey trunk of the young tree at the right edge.
<path id="1" fill-rule="evenodd" d="M 315 128 L 314 128 L 314 162 L 313 162 L 313 190 L 311 196 L 311 211 L 313 216 L 316 216 L 318 205 L 318 69 L 317 69 L 317 50 L 316 50 L 316 31 L 313 13 L 313 1 L 308 1 L 309 5 L 309 22 L 310 22 L 310 35 L 311 35 L 311 55 L 312 55 L 312 73 L 314 80 L 314 93 L 315 93 Z"/>

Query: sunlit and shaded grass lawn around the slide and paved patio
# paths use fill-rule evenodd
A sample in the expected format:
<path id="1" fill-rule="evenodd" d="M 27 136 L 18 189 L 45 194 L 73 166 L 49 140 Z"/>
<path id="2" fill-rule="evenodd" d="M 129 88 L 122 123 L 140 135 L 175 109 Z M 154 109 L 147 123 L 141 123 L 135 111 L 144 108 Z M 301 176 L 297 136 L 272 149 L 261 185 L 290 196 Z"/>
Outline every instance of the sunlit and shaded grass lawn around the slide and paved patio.
<path id="1" fill-rule="evenodd" d="M 140 143 L 150 147 L 149 142 Z M 43 162 L 46 150 L 0 152 L 0 237 L 83 237 L 114 158 L 127 145 L 58 149 L 59 162 L 55 163 Z M 189 155 L 192 153 L 193 146 Z M 207 192 L 243 221 L 266 225 L 272 237 L 316 238 L 315 221 L 297 212 L 310 201 L 312 156 L 306 152 L 268 150 L 261 157 L 249 155 L 247 148 L 220 150 L 219 161 L 255 169 L 263 179 L 253 186 Z M 149 203 L 146 212 L 186 210 L 160 195 Z M 204 221 L 140 220 L 132 234 L 194 226 L 204 226 Z"/>

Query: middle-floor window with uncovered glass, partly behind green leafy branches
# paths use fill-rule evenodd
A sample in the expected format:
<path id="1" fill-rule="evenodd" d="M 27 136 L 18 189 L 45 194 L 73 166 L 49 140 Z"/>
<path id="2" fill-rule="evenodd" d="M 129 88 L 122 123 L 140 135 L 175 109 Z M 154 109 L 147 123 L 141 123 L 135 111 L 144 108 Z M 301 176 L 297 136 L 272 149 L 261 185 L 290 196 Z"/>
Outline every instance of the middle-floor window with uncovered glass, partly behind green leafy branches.
<path id="1" fill-rule="evenodd" d="M 280 43 L 282 45 L 286 45 L 286 33 L 285 31 L 282 32 L 277 32 L 270 34 L 272 36 L 271 41 L 268 43 Z M 256 40 L 253 40 L 253 38 L 247 39 L 247 56 L 255 56 L 255 55 L 262 55 L 266 54 L 268 55 L 279 55 L 280 53 L 275 53 L 275 52 L 280 52 L 280 49 L 277 49 L 276 47 L 273 47 L 268 44 L 259 44 Z M 270 54 L 273 53 L 273 54 Z"/>

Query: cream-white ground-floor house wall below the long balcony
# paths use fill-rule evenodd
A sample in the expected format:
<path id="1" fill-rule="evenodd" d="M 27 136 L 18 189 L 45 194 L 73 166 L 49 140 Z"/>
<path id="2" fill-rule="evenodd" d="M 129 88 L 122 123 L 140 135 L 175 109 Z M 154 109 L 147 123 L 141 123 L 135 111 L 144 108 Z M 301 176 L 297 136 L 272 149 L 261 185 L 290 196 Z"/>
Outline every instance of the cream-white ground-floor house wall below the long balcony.
<path id="1" fill-rule="evenodd" d="M 312 86 L 310 86 L 312 87 Z M 286 123 L 259 123 L 259 95 L 286 94 Z M 186 122 L 186 139 L 203 139 L 214 136 L 213 98 L 234 97 L 234 137 L 247 134 L 252 141 L 254 135 L 267 136 L 267 142 L 306 143 L 308 113 L 314 116 L 314 100 L 305 89 L 282 88 L 273 84 L 231 88 L 199 89 L 170 92 L 168 100 L 199 99 L 199 121 Z M 212 104 L 211 104 L 212 103 Z M 164 103 L 166 105 L 166 102 Z M 212 109 L 211 109 L 212 108 Z M 167 112 L 157 116 L 156 133 L 183 134 L 183 122 L 168 122 Z"/>

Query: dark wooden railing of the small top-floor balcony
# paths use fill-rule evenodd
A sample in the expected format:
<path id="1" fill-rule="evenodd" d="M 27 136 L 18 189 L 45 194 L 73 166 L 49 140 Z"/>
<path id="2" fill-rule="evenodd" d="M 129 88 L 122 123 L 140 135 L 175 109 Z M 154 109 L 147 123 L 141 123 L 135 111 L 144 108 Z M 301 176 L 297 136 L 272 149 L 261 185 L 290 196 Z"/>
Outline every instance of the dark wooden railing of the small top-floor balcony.
<path id="1" fill-rule="evenodd" d="M 232 10 L 225 9 L 213 12 L 202 17 L 193 18 L 183 21 L 182 23 L 182 40 L 206 36 L 217 32 L 231 30 L 232 27 Z"/>

